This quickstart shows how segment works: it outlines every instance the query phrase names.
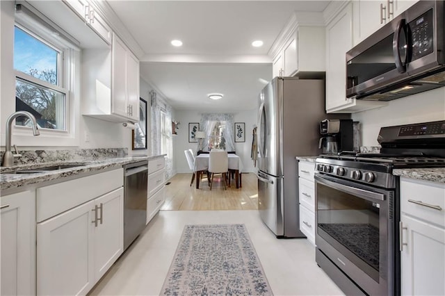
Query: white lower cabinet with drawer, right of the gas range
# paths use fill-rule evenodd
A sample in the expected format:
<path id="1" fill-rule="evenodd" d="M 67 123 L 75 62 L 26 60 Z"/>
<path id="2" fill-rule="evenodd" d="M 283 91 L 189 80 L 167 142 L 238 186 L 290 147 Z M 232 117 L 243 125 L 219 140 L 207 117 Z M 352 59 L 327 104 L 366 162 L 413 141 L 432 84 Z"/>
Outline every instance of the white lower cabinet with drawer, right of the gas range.
<path id="1" fill-rule="evenodd" d="M 445 295 L 445 184 L 401 178 L 400 227 L 402 295 Z"/>

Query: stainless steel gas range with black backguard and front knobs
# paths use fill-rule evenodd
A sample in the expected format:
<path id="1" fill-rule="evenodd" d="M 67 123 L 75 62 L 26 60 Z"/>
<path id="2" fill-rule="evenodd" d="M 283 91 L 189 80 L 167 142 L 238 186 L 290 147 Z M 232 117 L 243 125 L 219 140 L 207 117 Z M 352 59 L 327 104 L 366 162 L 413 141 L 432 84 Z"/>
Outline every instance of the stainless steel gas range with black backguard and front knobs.
<path id="1" fill-rule="evenodd" d="M 396 168 L 445 167 L 445 121 L 380 129 L 380 154 L 316 159 L 316 262 L 347 295 L 400 295 Z"/>

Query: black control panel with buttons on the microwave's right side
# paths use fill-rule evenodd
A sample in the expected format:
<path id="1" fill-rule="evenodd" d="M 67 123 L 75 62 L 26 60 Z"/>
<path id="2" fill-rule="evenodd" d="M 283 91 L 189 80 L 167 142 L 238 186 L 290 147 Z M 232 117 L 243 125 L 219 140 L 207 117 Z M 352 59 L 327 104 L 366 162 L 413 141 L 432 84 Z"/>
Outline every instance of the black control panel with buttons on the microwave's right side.
<path id="1" fill-rule="evenodd" d="M 417 60 L 418 58 L 431 54 L 434 45 L 432 44 L 432 40 L 434 39 L 432 9 L 410 22 L 409 28 L 412 36 L 411 60 Z"/>

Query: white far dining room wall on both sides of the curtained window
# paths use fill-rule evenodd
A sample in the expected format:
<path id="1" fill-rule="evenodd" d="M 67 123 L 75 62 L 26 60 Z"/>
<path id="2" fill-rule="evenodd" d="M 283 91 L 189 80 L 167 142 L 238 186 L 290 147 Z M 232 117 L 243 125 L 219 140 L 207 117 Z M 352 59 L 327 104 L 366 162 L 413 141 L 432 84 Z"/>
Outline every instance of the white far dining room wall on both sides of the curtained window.
<path id="1" fill-rule="evenodd" d="M 191 110 L 177 110 L 175 120 L 179 121 L 178 135 L 173 136 L 173 154 L 176 165 L 176 172 L 191 172 L 188 168 L 184 150 L 193 149 L 197 151 L 197 143 L 188 142 L 188 123 L 200 122 L 201 113 Z M 252 129 L 257 124 L 257 110 L 248 110 L 234 113 L 234 122 L 245 122 L 245 142 L 235 143 L 236 154 L 240 156 L 243 162 L 244 172 L 253 172 L 254 166 L 250 159 L 250 149 L 252 149 Z M 232 126 L 232 129 L 234 127 Z"/>

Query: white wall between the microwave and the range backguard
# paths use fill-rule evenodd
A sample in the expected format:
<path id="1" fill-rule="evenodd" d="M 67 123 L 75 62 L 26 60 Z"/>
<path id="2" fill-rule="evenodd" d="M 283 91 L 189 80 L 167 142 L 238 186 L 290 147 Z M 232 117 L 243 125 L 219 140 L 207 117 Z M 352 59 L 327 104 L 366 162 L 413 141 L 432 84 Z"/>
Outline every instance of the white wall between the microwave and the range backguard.
<path id="1" fill-rule="evenodd" d="M 353 113 L 352 118 L 360 122 L 362 146 L 378 146 L 382 126 L 445 120 L 445 88 L 395 99 L 388 106 Z"/>

